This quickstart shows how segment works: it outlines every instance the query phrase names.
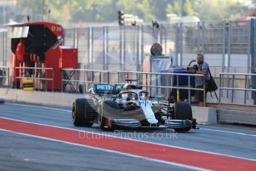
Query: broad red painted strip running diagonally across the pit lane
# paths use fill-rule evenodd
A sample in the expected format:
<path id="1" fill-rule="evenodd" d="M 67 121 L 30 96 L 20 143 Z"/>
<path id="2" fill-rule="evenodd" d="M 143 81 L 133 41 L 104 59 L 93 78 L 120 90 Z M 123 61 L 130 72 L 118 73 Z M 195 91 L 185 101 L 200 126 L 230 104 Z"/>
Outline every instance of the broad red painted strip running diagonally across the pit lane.
<path id="1" fill-rule="evenodd" d="M 170 162 L 170 164 L 179 164 L 181 166 L 192 167 L 193 169 L 256 170 L 256 161 L 252 160 L 196 152 L 141 141 L 131 141 L 108 135 L 99 136 L 91 132 L 84 132 L 86 138 L 80 138 L 80 131 L 78 130 L 39 125 L 3 117 L 0 117 L 0 129 L 39 138 L 49 138 L 54 141 L 63 141 L 65 143 L 74 143 L 128 155 L 141 156 L 142 158 L 150 158 L 156 161 Z"/>

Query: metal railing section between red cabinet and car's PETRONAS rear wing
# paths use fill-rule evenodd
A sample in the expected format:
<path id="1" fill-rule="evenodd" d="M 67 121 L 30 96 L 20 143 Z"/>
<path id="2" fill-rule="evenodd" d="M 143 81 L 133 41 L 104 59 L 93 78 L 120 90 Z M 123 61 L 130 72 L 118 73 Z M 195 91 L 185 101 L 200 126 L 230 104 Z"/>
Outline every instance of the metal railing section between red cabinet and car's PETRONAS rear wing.
<path id="1" fill-rule="evenodd" d="M 62 71 L 63 78 L 61 91 L 65 91 L 67 85 L 70 86 L 71 91 L 77 92 L 80 86 L 78 85 L 79 83 L 83 85 L 83 88 L 86 88 L 86 83 L 109 84 L 110 80 L 109 71 L 73 68 L 63 68 Z"/>

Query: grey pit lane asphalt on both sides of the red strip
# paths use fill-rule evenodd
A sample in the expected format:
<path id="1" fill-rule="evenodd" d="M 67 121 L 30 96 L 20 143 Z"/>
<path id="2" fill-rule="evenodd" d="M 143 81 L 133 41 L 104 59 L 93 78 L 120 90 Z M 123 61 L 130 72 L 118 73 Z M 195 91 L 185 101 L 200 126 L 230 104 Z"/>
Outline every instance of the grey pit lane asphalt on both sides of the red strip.
<path id="1" fill-rule="evenodd" d="M 199 126 L 200 129 L 177 134 L 172 129 L 103 132 L 97 124 L 92 128 L 74 127 L 71 109 L 25 103 L 1 104 L 0 117 L 256 159 L 256 128 L 252 126 Z M 0 137 L 1 170 L 186 170 L 143 158 L 31 138 L 13 132 L 0 131 Z"/>

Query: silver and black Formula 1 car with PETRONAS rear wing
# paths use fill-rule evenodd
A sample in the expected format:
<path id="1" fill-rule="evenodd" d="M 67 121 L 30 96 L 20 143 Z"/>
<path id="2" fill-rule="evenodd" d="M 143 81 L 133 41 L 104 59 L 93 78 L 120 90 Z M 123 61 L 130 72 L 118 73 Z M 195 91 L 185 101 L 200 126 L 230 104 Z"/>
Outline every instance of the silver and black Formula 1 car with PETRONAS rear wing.
<path id="1" fill-rule="evenodd" d="M 98 123 L 109 129 L 196 129 L 191 106 L 187 102 L 168 103 L 161 97 L 150 97 L 141 86 L 132 84 L 94 84 L 90 98 L 76 99 L 72 107 L 74 126 Z"/>

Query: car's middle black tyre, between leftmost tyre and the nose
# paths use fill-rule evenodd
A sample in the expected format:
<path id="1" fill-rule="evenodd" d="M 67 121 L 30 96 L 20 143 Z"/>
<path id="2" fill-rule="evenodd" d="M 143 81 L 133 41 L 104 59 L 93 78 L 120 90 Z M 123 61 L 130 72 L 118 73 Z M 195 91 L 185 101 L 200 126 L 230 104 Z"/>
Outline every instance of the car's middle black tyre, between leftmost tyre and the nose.
<path id="1" fill-rule="evenodd" d="M 112 130 L 113 127 L 107 127 L 106 121 L 108 118 L 118 117 L 118 104 L 115 101 L 103 101 L 100 109 L 100 129 Z"/>

